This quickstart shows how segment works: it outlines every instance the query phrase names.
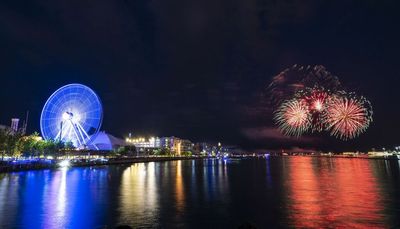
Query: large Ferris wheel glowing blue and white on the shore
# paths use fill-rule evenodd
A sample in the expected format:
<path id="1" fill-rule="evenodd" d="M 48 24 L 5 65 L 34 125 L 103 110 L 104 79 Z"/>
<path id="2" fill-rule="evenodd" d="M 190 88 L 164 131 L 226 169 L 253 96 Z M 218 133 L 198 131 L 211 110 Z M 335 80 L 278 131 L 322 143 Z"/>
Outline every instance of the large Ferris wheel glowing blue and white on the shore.
<path id="1" fill-rule="evenodd" d="M 77 148 L 90 145 L 103 120 L 100 98 L 89 87 L 68 84 L 46 101 L 40 116 L 44 139 L 71 142 Z"/>

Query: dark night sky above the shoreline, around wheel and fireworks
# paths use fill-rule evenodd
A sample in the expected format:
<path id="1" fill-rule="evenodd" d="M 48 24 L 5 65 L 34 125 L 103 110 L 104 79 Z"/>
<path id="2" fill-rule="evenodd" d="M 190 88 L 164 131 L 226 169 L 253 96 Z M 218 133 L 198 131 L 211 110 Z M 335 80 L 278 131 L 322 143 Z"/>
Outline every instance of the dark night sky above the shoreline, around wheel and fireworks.
<path id="1" fill-rule="evenodd" d="M 397 0 L 1 1 L 0 123 L 48 96 L 94 89 L 103 129 L 245 149 L 400 145 Z M 374 122 L 351 141 L 280 135 L 261 93 L 293 64 L 324 65 L 366 96 Z"/>

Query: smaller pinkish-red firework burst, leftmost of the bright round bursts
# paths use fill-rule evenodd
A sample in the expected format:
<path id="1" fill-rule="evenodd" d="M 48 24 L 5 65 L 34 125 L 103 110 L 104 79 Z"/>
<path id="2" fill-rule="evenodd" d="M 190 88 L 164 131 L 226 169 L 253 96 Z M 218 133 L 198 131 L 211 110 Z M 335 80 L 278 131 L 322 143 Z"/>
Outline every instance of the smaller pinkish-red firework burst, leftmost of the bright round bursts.
<path id="1" fill-rule="evenodd" d="M 311 116 L 307 104 L 302 100 L 288 100 L 278 108 L 274 117 L 286 135 L 300 136 L 310 128 Z"/>

